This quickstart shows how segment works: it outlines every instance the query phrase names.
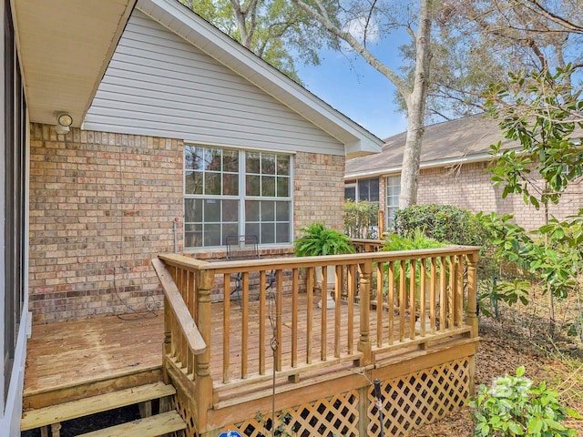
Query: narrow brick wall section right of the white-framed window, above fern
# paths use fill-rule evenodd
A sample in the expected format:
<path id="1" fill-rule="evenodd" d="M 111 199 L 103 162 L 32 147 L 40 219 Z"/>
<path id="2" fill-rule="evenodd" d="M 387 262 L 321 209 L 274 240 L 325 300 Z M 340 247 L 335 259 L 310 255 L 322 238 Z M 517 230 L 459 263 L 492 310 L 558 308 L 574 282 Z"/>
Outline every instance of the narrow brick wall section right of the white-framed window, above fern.
<path id="1" fill-rule="evenodd" d="M 296 237 L 301 228 L 316 220 L 343 229 L 344 157 L 299 152 L 293 176 Z"/>

